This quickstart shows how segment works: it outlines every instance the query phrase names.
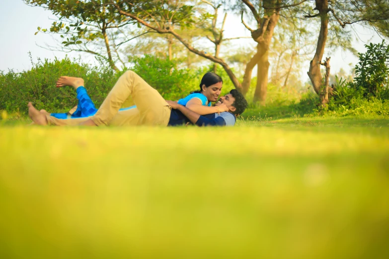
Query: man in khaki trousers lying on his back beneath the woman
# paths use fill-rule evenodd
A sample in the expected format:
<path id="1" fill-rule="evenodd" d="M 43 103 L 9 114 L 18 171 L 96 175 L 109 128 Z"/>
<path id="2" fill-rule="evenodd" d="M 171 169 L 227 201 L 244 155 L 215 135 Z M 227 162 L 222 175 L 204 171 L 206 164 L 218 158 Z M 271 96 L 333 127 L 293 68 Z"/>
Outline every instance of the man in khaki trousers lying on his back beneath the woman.
<path id="1" fill-rule="evenodd" d="M 81 78 L 66 77 L 66 84 L 75 88 L 83 85 Z M 136 108 L 119 111 L 123 102 L 132 96 Z M 236 102 L 238 101 L 238 102 Z M 171 111 L 169 104 L 177 110 Z M 96 114 L 86 118 L 58 119 L 49 114 L 40 113 L 31 103 L 28 104 L 29 116 L 38 125 L 57 126 L 125 126 L 125 125 L 182 125 L 191 122 L 203 125 L 233 125 L 235 117 L 241 114 L 247 106 L 244 97 L 236 90 L 222 97 L 216 106 L 223 107 L 229 113 L 200 116 L 178 104 L 169 102 L 148 85 L 133 71 L 126 71 L 116 82 L 107 98 L 104 100 Z M 233 120 L 232 120 L 233 119 Z"/>

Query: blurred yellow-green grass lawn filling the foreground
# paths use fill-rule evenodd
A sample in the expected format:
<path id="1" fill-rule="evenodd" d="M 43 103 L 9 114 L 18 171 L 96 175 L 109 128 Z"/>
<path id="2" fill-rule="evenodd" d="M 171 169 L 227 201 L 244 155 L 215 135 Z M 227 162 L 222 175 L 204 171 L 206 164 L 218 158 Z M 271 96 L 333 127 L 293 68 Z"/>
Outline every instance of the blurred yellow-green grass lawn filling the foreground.
<path id="1" fill-rule="evenodd" d="M 0 127 L 0 258 L 388 258 L 389 119 Z"/>

